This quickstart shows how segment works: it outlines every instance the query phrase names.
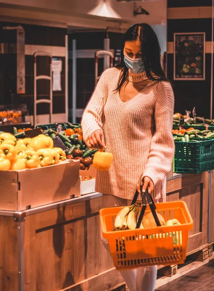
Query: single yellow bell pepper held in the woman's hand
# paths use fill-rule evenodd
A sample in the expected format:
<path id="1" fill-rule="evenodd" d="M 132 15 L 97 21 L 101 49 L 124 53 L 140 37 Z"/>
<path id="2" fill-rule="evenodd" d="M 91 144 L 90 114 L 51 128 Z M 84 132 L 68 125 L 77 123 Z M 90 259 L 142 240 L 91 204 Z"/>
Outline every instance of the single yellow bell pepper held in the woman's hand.
<path id="1" fill-rule="evenodd" d="M 113 154 L 97 151 L 94 155 L 93 164 L 99 171 L 108 171 L 113 161 Z"/>

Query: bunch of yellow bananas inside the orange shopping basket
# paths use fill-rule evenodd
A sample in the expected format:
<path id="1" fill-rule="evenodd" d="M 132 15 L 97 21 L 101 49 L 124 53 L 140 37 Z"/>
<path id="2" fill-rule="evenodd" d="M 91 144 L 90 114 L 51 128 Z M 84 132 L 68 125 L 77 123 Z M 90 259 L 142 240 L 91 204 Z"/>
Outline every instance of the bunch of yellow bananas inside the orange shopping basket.
<path id="1" fill-rule="evenodd" d="M 135 203 L 120 210 L 115 218 L 115 230 L 135 229 L 141 211 L 140 206 L 140 203 Z M 144 228 L 143 223 L 140 228 Z"/>

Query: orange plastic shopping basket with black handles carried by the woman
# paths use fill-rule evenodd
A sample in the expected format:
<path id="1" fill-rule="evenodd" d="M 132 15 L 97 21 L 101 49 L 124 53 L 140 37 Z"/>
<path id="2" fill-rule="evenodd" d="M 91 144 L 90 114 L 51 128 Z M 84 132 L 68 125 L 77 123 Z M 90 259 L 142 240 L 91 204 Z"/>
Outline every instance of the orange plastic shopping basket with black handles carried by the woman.
<path id="1" fill-rule="evenodd" d="M 100 220 L 103 237 L 108 239 L 114 265 L 117 270 L 141 266 L 181 264 L 186 259 L 188 231 L 193 229 L 193 220 L 183 201 L 154 204 L 151 195 L 142 193 L 142 210 L 134 230 L 114 231 L 115 217 L 123 207 L 101 209 Z M 136 191 L 132 204 L 137 201 Z M 148 200 L 148 205 L 147 201 Z M 152 211 L 157 226 L 139 228 L 144 213 Z M 156 212 L 165 221 L 176 218 L 181 225 L 161 225 Z"/>

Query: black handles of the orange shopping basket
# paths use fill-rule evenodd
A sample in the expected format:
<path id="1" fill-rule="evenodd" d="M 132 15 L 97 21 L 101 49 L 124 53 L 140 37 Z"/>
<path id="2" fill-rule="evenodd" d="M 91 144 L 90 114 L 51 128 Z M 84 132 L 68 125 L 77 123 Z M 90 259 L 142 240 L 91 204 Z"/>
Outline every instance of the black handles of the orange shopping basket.
<path id="1" fill-rule="evenodd" d="M 141 198 L 142 198 L 143 207 L 142 207 L 142 209 L 140 211 L 140 215 L 139 215 L 139 218 L 138 218 L 138 221 L 137 221 L 136 228 L 139 228 L 140 225 L 141 225 L 141 222 L 143 220 L 143 216 L 145 214 L 145 210 L 147 208 L 147 202 L 148 202 L 148 205 L 150 207 L 151 213 L 152 213 L 152 215 L 154 217 L 156 225 L 157 226 L 161 226 L 161 223 L 160 223 L 160 221 L 158 219 L 157 213 L 155 212 L 156 206 L 155 206 L 154 200 L 152 199 L 151 194 L 148 193 L 148 189 L 146 190 L 145 193 L 143 193 L 143 186 L 140 185 L 140 194 L 141 194 Z M 137 202 L 138 195 L 139 195 L 139 192 L 136 190 L 136 192 L 134 194 L 134 197 L 133 197 L 133 200 L 132 200 L 132 204 Z"/>

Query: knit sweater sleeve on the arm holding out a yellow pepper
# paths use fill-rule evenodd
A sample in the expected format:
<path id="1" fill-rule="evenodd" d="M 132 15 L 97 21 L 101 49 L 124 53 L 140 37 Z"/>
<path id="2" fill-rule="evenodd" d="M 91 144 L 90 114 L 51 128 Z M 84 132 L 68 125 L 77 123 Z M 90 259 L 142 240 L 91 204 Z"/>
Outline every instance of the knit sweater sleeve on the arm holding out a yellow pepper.
<path id="1" fill-rule="evenodd" d="M 95 91 L 89 100 L 87 107 L 82 115 L 82 130 L 85 141 L 98 129 L 102 129 L 102 116 L 105 99 L 107 97 L 106 90 L 106 71 L 102 73 Z"/>

